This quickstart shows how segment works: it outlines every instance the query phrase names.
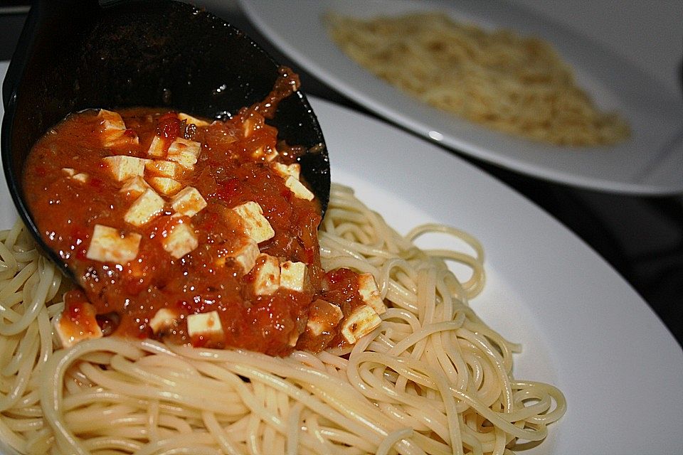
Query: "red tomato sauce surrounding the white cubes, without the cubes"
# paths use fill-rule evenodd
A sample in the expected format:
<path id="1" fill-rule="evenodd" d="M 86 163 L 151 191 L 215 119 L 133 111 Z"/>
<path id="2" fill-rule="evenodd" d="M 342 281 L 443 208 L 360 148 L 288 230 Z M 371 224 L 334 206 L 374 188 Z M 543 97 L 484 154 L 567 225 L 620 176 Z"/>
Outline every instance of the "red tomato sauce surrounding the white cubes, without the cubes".
<path id="1" fill-rule="evenodd" d="M 316 199 L 297 197 L 285 185 L 286 176 L 274 163 L 292 164 L 296 150 L 278 141 L 277 130 L 263 116 L 270 114 L 280 96 L 297 87 L 298 81 L 292 82 L 291 77 L 284 73 L 268 100 L 226 122 L 203 124 L 182 119 L 178 112 L 125 109 L 119 112 L 125 127 L 107 144 L 107 137 L 116 131 L 107 129 L 104 112 L 89 110 L 71 114 L 38 141 L 23 183 L 44 240 L 80 281 L 82 291 L 73 291 L 67 300 L 65 311 L 70 317 L 77 317 L 87 300 L 105 336 L 165 338 L 271 355 L 287 355 L 295 346 L 317 352 L 344 342 L 339 321 L 330 321 L 329 330 L 320 334 L 307 331 L 307 321 L 309 312 L 319 309 L 315 304 L 319 299 L 339 306 L 344 316 L 362 304 L 354 284 L 357 275 L 347 270 L 326 277 L 317 240 L 319 205 Z M 150 156 L 155 137 L 159 156 Z M 163 208 L 141 225 L 129 223 L 127 214 L 139 194 L 122 191 L 130 178 L 117 179 L 116 168 L 103 159 L 173 161 L 170 149 L 177 138 L 201 147 L 190 168 L 175 166 L 173 181 L 179 188 L 196 188 L 206 206 L 191 215 L 177 212 L 172 203 L 179 190 L 164 194 L 154 188 L 164 200 Z M 141 175 L 148 184 L 159 176 L 152 166 Z M 307 278 L 299 291 L 282 287 L 268 294 L 255 291 L 265 257 L 248 271 L 236 259 L 249 236 L 233 208 L 247 202 L 260 205 L 274 231 L 258 242 L 258 252 L 280 264 L 305 264 Z M 117 238 L 139 236 L 134 257 L 93 259 L 96 225 L 113 228 Z M 174 257 L 164 242 L 186 228 L 196 237 L 196 245 Z M 176 317 L 154 328 L 150 322 L 161 309 Z M 220 323 L 222 332 L 191 335 L 188 318 L 212 311 L 217 311 L 219 321 L 211 319 L 208 325 Z"/>

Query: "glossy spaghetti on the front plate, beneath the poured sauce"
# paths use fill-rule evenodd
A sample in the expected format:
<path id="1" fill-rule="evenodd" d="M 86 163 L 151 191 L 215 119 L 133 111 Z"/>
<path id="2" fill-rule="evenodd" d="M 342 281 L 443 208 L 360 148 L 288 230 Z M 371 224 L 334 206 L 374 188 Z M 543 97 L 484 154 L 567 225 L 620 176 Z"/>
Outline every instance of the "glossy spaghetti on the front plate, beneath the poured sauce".
<path id="1" fill-rule="evenodd" d="M 415 247 L 433 231 L 467 252 Z M 326 269 L 371 272 L 388 310 L 350 352 L 274 358 L 114 336 L 55 349 L 68 284 L 21 223 L 0 232 L 0 440 L 21 454 L 509 454 L 546 437 L 566 402 L 515 379 L 517 346 L 468 306 L 484 285 L 476 240 L 398 235 L 334 186 L 320 243 Z"/>

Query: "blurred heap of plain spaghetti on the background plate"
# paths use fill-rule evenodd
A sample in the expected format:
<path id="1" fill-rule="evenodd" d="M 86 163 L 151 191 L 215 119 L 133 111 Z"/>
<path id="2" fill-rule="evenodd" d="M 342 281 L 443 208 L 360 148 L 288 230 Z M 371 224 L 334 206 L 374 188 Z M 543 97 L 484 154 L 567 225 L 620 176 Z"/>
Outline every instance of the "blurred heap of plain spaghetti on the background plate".
<path id="1" fill-rule="evenodd" d="M 325 20 L 356 63 L 472 122 L 566 146 L 615 144 L 630 135 L 625 120 L 601 112 L 540 38 L 488 32 L 440 13 Z"/>

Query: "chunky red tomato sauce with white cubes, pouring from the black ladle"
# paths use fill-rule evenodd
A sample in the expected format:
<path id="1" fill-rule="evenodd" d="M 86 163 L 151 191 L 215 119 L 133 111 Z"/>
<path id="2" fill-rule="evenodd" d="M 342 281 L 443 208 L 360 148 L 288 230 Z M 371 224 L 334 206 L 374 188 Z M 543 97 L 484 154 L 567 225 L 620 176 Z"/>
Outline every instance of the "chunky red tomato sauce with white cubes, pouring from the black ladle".
<path id="1" fill-rule="evenodd" d="M 383 312 L 376 284 L 319 259 L 300 150 L 265 122 L 298 81 L 227 121 L 149 108 L 70 114 L 33 147 L 23 185 L 80 289 L 64 346 L 128 336 L 287 355 L 354 343 Z"/>

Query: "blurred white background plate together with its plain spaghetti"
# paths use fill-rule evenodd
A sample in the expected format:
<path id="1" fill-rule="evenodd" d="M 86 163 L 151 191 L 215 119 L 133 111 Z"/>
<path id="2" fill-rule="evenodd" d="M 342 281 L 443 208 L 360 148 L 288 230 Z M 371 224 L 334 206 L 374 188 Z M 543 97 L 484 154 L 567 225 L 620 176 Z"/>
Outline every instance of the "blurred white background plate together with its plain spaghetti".
<path id="1" fill-rule="evenodd" d="M 241 3 L 255 26 L 302 68 L 425 138 L 572 186 L 683 191 L 682 100 L 561 24 L 507 2 L 477 0 Z M 434 12 L 447 19 L 361 23 Z M 492 33 L 499 29 L 514 36 Z M 544 57 L 531 60 L 529 53 Z"/>

